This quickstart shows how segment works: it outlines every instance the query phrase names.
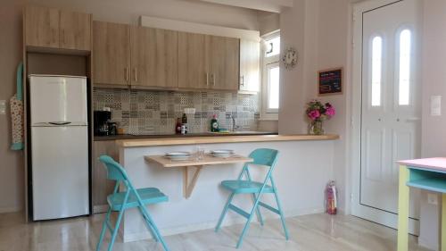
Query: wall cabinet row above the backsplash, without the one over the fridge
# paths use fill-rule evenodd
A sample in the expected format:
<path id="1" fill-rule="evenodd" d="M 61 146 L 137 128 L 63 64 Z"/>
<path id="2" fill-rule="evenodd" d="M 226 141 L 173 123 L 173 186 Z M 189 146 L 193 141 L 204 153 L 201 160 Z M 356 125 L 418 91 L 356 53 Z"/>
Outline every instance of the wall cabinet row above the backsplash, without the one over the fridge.
<path id="1" fill-rule="evenodd" d="M 260 43 L 94 21 L 96 84 L 257 91 Z"/>

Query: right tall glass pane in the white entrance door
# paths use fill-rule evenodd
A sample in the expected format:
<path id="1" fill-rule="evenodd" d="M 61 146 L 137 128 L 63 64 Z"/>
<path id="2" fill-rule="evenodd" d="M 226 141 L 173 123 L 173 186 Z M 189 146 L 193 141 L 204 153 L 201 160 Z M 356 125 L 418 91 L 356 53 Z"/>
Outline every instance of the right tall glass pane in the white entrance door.
<path id="1" fill-rule="evenodd" d="M 400 105 L 409 105 L 410 40 L 410 30 L 402 30 L 400 34 L 400 84 L 398 98 Z"/>

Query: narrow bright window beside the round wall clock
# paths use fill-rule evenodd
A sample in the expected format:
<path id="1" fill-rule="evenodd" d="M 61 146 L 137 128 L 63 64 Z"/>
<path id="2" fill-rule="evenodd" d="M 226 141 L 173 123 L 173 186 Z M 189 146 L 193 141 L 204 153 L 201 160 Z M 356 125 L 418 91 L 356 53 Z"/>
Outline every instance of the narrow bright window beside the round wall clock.
<path id="1" fill-rule="evenodd" d="M 275 32 L 264 37 L 262 47 L 262 111 L 260 118 L 277 120 L 280 89 L 280 33 Z"/>

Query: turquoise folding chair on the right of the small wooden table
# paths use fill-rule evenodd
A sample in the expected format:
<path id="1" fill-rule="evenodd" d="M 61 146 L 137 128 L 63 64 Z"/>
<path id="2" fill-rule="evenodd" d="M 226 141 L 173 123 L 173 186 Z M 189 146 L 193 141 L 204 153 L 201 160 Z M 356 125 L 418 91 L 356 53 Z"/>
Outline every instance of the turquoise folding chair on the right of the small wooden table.
<path id="1" fill-rule="evenodd" d="M 276 184 L 274 183 L 274 179 L 272 176 L 272 172 L 273 172 L 274 167 L 276 166 L 276 163 L 277 163 L 277 155 L 278 155 L 277 150 L 256 149 L 250 155 L 250 157 L 254 161 L 252 163 L 244 164 L 244 168 L 243 168 L 242 172 L 240 172 L 240 175 L 238 176 L 237 180 L 224 180 L 221 182 L 222 187 L 229 190 L 231 192 L 231 195 L 227 199 L 227 203 L 223 209 L 223 212 L 220 215 L 219 223 L 217 223 L 217 227 L 215 228 L 215 231 L 216 232 L 219 231 L 221 222 L 223 222 L 228 209 L 231 209 L 235 213 L 238 213 L 238 214 L 244 216 L 244 218 L 246 218 L 248 221 L 244 224 L 244 230 L 242 231 L 242 235 L 238 239 L 237 246 L 236 246 L 237 248 L 242 245 L 242 242 L 244 240 L 244 235 L 246 234 L 246 231 L 249 229 L 250 222 L 252 221 L 252 215 L 254 213 L 257 214 L 257 218 L 260 222 L 260 225 L 263 226 L 263 218 L 260 213 L 259 205 L 261 207 L 268 209 L 269 211 L 271 211 L 273 213 L 277 213 L 280 215 L 280 220 L 282 222 L 282 226 L 284 227 L 285 238 L 288 240 L 288 230 L 286 229 L 286 225 L 285 225 L 285 217 L 284 217 L 284 213 L 282 212 L 279 198 L 277 196 Z M 254 164 L 254 166 L 256 166 L 256 167 L 259 167 L 259 166 L 267 166 L 268 167 L 269 170 L 267 172 L 267 176 L 266 176 L 265 180 L 263 181 L 263 183 L 253 181 L 251 179 L 249 167 L 252 164 Z M 243 180 L 244 176 L 245 176 L 246 180 Z M 270 182 L 269 185 L 268 185 L 268 181 Z M 252 194 L 252 201 L 253 201 L 254 205 L 252 206 L 251 213 L 247 213 L 240 207 L 231 204 L 231 201 L 236 194 Z M 260 201 L 260 197 L 263 194 L 274 194 L 274 197 L 276 197 L 277 209 L 272 207 L 271 205 L 267 205 Z"/>

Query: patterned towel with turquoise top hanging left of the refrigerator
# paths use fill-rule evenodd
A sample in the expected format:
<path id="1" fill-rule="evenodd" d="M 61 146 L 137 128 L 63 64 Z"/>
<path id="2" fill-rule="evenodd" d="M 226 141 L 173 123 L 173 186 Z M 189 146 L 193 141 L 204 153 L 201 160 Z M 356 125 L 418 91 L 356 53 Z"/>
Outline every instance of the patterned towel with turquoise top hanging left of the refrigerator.
<path id="1" fill-rule="evenodd" d="M 23 63 L 17 66 L 17 93 L 11 97 L 12 145 L 11 150 L 23 149 Z"/>

